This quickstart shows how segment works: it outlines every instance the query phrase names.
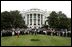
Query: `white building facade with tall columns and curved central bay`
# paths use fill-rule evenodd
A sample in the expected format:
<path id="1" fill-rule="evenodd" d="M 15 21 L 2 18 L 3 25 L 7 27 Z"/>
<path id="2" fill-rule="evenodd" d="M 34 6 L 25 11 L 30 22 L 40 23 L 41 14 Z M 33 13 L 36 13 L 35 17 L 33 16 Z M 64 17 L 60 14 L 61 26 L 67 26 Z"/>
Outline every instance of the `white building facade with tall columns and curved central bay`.
<path id="1" fill-rule="evenodd" d="M 29 28 L 40 28 L 45 24 L 46 16 L 48 16 L 47 11 L 43 11 L 37 8 L 33 8 L 22 12 L 25 24 Z"/>

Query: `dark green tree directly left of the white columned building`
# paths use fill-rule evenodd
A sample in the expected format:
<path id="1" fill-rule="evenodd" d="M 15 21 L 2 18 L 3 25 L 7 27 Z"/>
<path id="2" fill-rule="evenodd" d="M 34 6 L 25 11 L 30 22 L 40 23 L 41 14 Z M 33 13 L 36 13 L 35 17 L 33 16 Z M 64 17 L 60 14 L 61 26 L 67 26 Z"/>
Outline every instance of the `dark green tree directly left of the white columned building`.
<path id="1" fill-rule="evenodd" d="M 19 11 L 10 11 L 12 27 L 20 27 L 24 24 L 24 20 Z"/>

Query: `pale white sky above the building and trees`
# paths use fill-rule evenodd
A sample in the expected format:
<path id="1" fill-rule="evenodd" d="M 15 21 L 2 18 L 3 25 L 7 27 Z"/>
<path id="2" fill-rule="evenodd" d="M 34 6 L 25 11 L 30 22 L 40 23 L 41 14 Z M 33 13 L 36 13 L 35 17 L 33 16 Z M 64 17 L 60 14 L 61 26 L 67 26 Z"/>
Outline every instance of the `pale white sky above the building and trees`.
<path id="1" fill-rule="evenodd" d="M 1 12 L 38 8 L 46 11 L 62 11 L 71 18 L 71 1 L 1 1 Z"/>

